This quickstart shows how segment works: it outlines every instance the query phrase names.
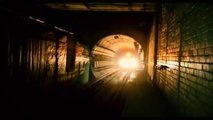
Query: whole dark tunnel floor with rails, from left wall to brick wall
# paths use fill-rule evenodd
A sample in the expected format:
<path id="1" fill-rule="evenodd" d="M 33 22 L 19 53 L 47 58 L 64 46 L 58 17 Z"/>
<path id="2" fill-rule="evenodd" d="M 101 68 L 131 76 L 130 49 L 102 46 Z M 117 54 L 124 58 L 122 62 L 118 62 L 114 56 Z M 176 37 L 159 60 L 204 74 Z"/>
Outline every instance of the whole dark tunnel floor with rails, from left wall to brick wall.
<path id="1" fill-rule="evenodd" d="M 159 90 L 145 78 L 145 75 L 138 75 L 135 81 L 121 89 L 119 84 L 79 87 L 72 86 L 69 81 L 45 89 L 28 86 L 13 90 L 2 109 L 5 108 L 6 117 L 16 115 L 27 119 L 176 117 Z"/>

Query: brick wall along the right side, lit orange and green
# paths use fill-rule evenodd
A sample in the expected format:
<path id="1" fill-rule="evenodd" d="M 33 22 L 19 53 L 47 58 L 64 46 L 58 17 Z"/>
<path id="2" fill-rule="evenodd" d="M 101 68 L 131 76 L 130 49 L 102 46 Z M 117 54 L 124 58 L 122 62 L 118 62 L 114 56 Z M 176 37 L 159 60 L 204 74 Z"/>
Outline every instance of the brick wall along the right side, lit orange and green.
<path id="1" fill-rule="evenodd" d="M 181 116 L 213 116 L 213 6 L 162 5 L 157 83 Z"/>

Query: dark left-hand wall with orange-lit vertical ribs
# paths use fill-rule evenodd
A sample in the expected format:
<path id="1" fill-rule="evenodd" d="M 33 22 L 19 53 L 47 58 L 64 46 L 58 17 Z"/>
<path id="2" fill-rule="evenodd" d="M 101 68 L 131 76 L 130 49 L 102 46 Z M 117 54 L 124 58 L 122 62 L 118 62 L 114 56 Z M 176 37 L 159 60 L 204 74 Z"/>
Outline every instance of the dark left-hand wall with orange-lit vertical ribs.
<path id="1" fill-rule="evenodd" d="M 4 33 L 1 34 L 1 41 L 5 43 L 2 48 L 6 51 L 5 83 L 8 86 L 15 89 L 25 85 L 42 86 L 71 80 L 75 63 L 67 62 L 67 51 L 72 55 L 68 61 L 73 61 L 71 59 L 75 59 L 75 44 L 70 34 L 27 17 L 6 11 L 3 14 L 3 20 L 7 24 L 1 24 L 1 33 Z M 73 45 L 68 46 L 68 42 Z"/>

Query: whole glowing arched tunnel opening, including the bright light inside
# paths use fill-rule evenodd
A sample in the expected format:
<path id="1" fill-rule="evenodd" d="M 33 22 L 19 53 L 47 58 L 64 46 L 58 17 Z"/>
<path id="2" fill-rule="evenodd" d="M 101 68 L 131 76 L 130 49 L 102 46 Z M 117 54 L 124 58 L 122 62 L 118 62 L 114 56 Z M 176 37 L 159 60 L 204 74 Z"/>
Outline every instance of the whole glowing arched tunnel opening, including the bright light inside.
<path id="1" fill-rule="evenodd" d="M 112 34 L 100 39 L 91 51 L 91 70 L 96 79 L 107 75 L 135 78 L 133 73 L 142 70 L 144 52 L 140 43 L 130 36 Z"/>

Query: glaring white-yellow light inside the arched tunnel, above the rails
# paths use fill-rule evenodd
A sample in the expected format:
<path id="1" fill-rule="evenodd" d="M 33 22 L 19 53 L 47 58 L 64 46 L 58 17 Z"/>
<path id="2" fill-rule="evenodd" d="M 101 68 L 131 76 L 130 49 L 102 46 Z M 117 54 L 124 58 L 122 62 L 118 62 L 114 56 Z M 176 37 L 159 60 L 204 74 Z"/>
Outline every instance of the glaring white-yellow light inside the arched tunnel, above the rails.
<path id="1" fill-rule="evenodd" d="M 121 58 L 118 60 L 118 65 L 125 69 L 136 69 L 138 66 L 138 61 L 136 58 Z"/>

